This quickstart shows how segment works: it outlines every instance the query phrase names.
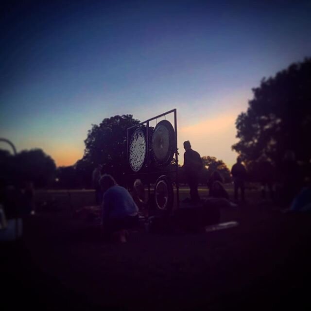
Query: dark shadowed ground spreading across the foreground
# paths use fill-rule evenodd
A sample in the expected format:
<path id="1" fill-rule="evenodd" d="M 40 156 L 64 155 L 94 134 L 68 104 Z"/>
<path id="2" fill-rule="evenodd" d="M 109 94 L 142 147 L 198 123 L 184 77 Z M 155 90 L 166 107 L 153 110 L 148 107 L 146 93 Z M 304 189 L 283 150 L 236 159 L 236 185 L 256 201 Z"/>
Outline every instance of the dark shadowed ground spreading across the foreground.
<path id="1" fill-rule="evenodd" d="M 10 309 L 310 310 L 310 214 L 282 213 L 249 190 L 245 205 L 222 210 L 222 221 L 237 227 L 170 234 L 141 227 L 127 243 L 109 244 L 75 213 L 93 195 L 37 193 L 61 209 L 25 219 L 23 239 L 0 245 L 1 296 Z"/>

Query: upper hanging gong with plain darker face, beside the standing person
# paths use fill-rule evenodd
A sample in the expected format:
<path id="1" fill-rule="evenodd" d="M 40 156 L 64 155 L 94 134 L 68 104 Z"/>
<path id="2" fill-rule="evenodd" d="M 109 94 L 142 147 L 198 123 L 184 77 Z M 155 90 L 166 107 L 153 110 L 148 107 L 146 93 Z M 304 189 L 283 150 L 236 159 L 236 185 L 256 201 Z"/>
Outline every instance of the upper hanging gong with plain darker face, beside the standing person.
<path id="1" fill-rule="evenodd" d="M 162 120 L 155 126 L 152 136 L 152 153 L 155 163 L 169 165 L 175 152 L 175 132 L 172 124 Z"/>

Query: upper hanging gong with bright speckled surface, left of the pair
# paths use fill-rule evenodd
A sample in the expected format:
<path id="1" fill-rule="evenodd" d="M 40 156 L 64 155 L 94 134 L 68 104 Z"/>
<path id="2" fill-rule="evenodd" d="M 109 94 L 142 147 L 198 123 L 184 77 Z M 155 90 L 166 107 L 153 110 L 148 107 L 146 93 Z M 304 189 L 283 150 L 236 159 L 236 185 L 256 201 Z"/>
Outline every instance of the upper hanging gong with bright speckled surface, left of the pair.
<path id="1" fill-rule="evenodd" d="M 141 128 L 135 130 L 129 144 L 129 164 L 134 172 L 138 172 L 146 158 L 146 138 Z"/>

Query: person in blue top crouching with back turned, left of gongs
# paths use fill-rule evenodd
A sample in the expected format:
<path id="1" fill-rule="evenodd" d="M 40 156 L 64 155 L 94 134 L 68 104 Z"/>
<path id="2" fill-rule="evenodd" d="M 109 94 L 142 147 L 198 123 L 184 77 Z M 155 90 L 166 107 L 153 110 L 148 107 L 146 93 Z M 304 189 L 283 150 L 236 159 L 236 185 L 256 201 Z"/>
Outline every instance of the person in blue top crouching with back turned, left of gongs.
<path id="1" fill-rule="evenodd" d="M 102 219 L 106 238 L 119 233 L 120 242 L 126 242 L 127 229 L 138 225 L 138 207 L 130 193 L 117 185 L 111 175 L 100 179 L 103 191 Z"/>

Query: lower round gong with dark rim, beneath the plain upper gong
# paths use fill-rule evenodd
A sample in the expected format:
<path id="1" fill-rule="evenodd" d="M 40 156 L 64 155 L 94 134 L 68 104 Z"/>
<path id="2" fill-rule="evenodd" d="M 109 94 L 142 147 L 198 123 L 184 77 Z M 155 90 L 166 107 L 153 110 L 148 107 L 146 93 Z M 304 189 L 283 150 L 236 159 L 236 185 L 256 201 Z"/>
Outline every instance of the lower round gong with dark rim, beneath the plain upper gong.
<path id="1" fill-rule="evenodd" d="M 171 211 L 174 203 L 173 185 L 166 175 L 155 182 L 155 207 L 161 211 Z"/>

